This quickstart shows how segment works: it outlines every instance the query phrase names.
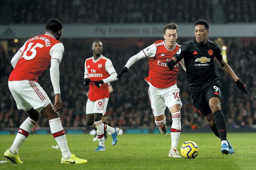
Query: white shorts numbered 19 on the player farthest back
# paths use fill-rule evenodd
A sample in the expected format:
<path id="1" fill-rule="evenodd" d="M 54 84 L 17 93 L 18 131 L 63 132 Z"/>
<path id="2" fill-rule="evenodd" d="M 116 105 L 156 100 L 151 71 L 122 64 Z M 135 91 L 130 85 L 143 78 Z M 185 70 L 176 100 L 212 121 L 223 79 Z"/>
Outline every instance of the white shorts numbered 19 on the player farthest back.
<path id="1" fill-rule="evenodd" d="M 108 106 L 108 98 L 91 101 L 90 99 L 87 100 L 86 103 L 86 114 L 92 113 L 101 113 L 104 115 L 107 111 Z"/>

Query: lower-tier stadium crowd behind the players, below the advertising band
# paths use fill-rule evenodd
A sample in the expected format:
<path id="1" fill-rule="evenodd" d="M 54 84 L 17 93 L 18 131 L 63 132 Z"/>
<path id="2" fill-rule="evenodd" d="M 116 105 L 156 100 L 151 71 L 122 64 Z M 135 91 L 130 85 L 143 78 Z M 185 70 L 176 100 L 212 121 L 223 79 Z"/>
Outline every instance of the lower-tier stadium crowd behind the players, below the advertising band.
<path id="1" fill-rule="evenodd" d="M 178 43 L 188 39 L 179 39 Z M 85 106 L 87 88 L 84 83 L 84 61 L 92 56 L 91 43 L 93 40 L 63 39 L 65 53 L 60 64 L 60 88 L 62 108 L 60 117 L 63 127 L 88 127 L 86 125 Z M 110 58 L 116 71 L 122 69 L 127 60 L 147 47 L 154 40 L 136 40 L 136 44 L 128 43 L 122 46 L 124 40 L 102 40 L 103 55 Z M 135 40 L 134 40 L 135 41 Z M 20 46 L 25 41 L 20 41 Z M 226 115 L 229 128 L 250 127 L 256 125 L 256 48 L 250 39 L 227 39 L 228 64 L 247 85 L 249 95 L 236 88 L 233 80 L 224 74 L 216 63 L 216 72 L 220 78 L 222 110 Z M 126 41 L 127 43 L 127 41 Z M 130 44 L 130 45 L 129 45 Z M 16 103 L 8 89 L 8 77 L 12 70 L 11 58 L 13 53 L 5 53 L 0 46 L 0 129 L 19 127 L 27 118 L 22 110 L 17 110 Z M 154 116 L 148 100 L 148 84 L 144 78 L 148 75 L 148 60 L 143 59 L 135 63 L 124 76 L 113 82 L 114 92 L 110 94 L 106 120 L 110 126 L 128 126 L 137 128 L 147 126 L 156 128 Z M 194 108 L 188 96 L 188 81 L 184 70 L 178 73 L 178 87 L 183 103 L 181 109 L 182 128 L 209 128 Z M 49 68 L 41 77 L 39 84 L 44 88 L 50 99 L 54 100 Z M 165 111 L 167 125 L 172 119 L 168 109 Z M 37 126 L 48 127 L 49 123 L 44 115 Z M 88 127 L 89 128 L 89 127 Z"/>

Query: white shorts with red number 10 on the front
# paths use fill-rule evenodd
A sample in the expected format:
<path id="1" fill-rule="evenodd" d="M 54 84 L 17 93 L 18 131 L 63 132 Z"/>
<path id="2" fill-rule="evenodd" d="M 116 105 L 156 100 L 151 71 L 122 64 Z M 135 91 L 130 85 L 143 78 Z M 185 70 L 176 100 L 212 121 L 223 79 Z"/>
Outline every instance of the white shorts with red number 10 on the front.
<path id="1" fill-rule="evenodd" d="M 165 89 L 149 86 L 148 96 L 154 116 L 163 115 L 166 106 L 169 110 L 175 104 L 179 104 L 182 107 L 179 92 L 180 89 L 177 87 L 177 84 Z"/>

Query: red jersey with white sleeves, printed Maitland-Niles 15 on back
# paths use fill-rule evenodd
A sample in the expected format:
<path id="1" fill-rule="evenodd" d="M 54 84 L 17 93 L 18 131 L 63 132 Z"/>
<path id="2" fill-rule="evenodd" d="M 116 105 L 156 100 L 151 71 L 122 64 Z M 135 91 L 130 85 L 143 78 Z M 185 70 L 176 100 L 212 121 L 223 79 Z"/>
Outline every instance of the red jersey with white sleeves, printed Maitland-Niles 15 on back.
<path id="1" fill-rule="evenodd" d="M 56 51 L 61 50 L 61 53 Z M 38 81 L 38 76 L 46 70 L 51 59 L 61 61 L 64 53 L 63 44 L 50 33 L 28 39 L 22 48 L 20 60 L 12 70 L 8 81 Z M 61 55 L 60 55 L 61 54 Z"/>

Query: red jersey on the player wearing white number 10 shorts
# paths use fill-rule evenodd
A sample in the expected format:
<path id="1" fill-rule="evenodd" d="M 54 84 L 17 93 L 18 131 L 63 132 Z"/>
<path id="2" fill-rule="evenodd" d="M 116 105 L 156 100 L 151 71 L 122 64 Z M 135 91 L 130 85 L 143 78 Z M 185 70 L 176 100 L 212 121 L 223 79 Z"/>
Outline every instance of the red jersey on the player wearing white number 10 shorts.
<path id="1" fill-rule="evenodd" d="M 142 50 L 145 56 L 148 57 L 149 71 L 145 80 L 149 85 L 164 89 L 176 84 L 179 63 L 171 71 L 167 67 L 166 61 L 170 60 L 179 48 L 180 45 L 176 43 L 170 49 L 165 45 L 164 40 L 160 40 Z"/>

